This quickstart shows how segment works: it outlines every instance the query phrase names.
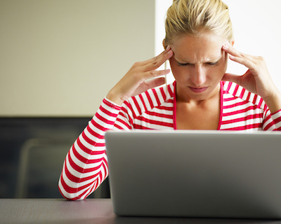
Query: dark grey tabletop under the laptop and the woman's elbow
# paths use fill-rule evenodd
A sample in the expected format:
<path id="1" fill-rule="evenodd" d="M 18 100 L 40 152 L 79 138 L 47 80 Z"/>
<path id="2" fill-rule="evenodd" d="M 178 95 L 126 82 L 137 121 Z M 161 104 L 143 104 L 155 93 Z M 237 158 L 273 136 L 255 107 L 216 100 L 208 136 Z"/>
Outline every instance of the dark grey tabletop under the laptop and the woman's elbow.
<path id="1" fill-rule="evenodd" d="M 268 221 L 216 218 L 119 217 L 112 211 L 111 199 L 87 199 L 83 201 L 67 201 L 63 199 L 0 199 L 0 223 L 281 224 L 281 220 Z"/>

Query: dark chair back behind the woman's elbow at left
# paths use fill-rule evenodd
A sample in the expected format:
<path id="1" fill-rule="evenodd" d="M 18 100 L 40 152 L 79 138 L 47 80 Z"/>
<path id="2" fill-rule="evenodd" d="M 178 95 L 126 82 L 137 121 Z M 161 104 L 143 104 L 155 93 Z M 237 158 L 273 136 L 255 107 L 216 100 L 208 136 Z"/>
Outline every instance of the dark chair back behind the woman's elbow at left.
<path id="1" fill-rule="evenodd" d="M 65 155 L 73 139 L 28 139 L 20 149 L 17 198 L 62 197 L 58 179 Z M 110 197 L 109 183 L 105 183 L 91 197 Z"/>

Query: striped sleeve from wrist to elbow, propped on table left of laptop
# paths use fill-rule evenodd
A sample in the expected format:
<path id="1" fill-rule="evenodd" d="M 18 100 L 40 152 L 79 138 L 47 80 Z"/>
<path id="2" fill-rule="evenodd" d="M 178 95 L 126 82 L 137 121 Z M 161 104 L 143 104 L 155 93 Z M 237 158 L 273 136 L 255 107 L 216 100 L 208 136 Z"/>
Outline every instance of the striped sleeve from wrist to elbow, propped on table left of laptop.
<path id="1" fill-rule="evenodd" d="M 112 130 L 120 111 L 121 106 L 103 99 L 67 153 L 58 182 L 60 193 L 67 200 L 85 199 L 108 176 L 105 132 Z"/>

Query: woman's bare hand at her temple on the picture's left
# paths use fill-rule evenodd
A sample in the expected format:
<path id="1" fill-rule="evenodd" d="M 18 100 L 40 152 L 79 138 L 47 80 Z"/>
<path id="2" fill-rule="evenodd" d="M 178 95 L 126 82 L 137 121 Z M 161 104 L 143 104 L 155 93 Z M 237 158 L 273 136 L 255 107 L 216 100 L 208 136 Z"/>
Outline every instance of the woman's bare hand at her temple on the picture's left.
<path id="1" fill-rule="evenodd" d="M 108 92 L 106 98 L 121 106 L 129 97 L 141 94 L 152 87 L 163 85 L 165 83 L 165 78 L 159 78 L 159 76 L 168 74 L 170 70 L 156 71 L 156 69 L 173 55 L 173 50 L 168 46 L 166 50 L 157 57 L 144 62 L 136 62 L 126 75 L 119 80 L 115 87 Z"/>

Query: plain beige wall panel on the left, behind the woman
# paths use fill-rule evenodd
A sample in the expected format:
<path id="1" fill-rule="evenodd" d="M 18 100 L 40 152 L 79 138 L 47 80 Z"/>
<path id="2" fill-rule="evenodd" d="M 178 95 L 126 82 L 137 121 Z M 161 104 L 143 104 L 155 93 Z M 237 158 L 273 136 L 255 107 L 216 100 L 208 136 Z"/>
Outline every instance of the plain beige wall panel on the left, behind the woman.
<path id="1" fill-rule="evenodd" d="M 154 56 L 151 0 L 0 0 L 0 116 L 93 116 Z"/>

